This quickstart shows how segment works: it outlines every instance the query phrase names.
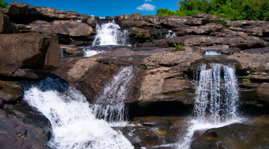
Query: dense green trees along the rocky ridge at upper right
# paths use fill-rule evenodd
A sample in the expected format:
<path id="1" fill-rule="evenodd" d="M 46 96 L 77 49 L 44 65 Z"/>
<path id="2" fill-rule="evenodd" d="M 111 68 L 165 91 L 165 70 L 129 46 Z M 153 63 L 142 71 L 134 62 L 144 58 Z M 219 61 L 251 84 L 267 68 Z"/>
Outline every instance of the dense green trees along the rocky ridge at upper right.
<path id="1" fill-rule="evenodd" d="M 268 0 L 178 0 L 175 5 L 178 10 L 161 8 L 157 10 L 157 16 L 208 13 L 228 20 L 269 21 Z"/>

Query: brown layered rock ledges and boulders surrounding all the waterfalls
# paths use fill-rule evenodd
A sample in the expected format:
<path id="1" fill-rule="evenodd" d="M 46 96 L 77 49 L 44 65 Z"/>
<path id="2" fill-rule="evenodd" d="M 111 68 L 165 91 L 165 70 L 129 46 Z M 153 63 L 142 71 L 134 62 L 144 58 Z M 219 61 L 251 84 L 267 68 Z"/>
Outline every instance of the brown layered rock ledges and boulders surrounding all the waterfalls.
<path id="1" fill-rule="evenodd" d="M 216 24 L 214 19 L 227 24 Z M 113 21 L 119 30 L 129 32 L 131 46 L 92 46 L 98 25 Z M 1 148 L 56 148 L 47 143 L 53 134 L 51 122 L 23 100 L 25 80 L 49 75 L 95 104 L 107 83 L 127 66 L 134 71 L 123 99 L 130 125 L 113 129 L 134 148 L 178 148 L 195 115 L 197 68 L 210 62 L 235 66 L 237 111 L 244 120 L 194 132 L 190 148 L 268 148 L 268 24 L 208 14 L 135 13 L 102 20 L 12 2 L 0 10 Z M 166 38 L 173 33 L 176 37 Z M 185 50 L 173 51 L 177 44 Z M 86 48 L 101 53 L 85 57 Z M 224 55 L 204 55 L 212 50 Z"/>

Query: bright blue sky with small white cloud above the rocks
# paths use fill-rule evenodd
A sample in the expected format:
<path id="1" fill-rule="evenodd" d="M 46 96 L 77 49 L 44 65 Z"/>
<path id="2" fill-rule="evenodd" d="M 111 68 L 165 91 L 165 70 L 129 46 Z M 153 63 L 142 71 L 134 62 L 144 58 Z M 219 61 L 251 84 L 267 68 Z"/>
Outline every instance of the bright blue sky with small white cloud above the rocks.
<path id="1" fill-rule="evenodd" d="M 13 0 L 3 0 L 9 5 Z M 176 10 L 177 0 L 17 0 L 31 6 L 52 7 L 58 10 L 76 11 L 81 14 L 99 17 L 129 15 L 141 12 L 141 15 L 155 15 L 156 10 L 167 7 Z"/>

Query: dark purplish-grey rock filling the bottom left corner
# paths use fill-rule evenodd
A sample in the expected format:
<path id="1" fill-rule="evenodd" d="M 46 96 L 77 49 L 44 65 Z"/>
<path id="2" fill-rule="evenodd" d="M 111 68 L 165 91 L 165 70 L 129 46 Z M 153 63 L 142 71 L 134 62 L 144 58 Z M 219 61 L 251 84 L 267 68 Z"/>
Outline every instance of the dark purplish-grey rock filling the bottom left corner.
<path id="1" fill-rule="evenodd" d="M 2 110 L 0 117 L 1 148 L 54 148 L 46 143 L 47 136 L 36 127 L 21 122 L 14 115 L 6 115 Z"/>

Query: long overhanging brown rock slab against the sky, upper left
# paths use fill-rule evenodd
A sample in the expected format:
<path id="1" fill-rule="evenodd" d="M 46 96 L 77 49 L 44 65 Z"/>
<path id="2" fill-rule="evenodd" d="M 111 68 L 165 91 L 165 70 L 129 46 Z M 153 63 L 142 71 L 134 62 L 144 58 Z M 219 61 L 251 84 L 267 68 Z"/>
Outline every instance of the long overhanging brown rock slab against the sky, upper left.
<path id="1" fill-rule="evenodd" d="M 29 24 L 36 20 L 54 21 L 69 19 L 84 19 L 88 15 L 79 14 L 75 11 L 57 10 L 49 7 L 35 7 L 24 3 L 11 2 L 6 13 L 10 21 L 16 24 Z"/>

